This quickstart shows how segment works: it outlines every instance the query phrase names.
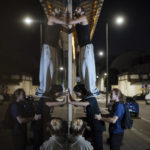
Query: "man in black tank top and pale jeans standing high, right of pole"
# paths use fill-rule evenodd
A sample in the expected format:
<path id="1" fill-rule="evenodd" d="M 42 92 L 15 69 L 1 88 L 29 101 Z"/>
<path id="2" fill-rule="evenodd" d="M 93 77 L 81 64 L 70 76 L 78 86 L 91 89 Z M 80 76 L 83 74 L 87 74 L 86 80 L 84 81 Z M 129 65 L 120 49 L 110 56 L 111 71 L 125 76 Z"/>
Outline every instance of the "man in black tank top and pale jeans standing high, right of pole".
<path id="1" fill-rule="evenodd" d="M 88 19 L 82 7 L 75 9 L 75 19 L 69 19 L 70 25 L 76 25 L 78 44 L 80 46 L 80 78 L 86 89 L 94 96 L 100 95 L 96 88 L 96 69 L 94 59 L 94 48 L 90 39 L 90 29 Z"/>

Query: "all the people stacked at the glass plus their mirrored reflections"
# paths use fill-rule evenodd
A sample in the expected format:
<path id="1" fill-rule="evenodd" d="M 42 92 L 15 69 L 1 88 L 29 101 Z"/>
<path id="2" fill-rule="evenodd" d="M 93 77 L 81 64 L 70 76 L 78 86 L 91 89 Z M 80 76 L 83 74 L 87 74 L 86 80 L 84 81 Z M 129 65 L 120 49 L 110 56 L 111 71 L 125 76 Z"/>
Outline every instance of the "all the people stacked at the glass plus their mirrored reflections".
<path id="1" fill-rule="evenodd" d="M 96 99 L 100 92 L 96 88 L 94 51 L 90 40 L 88 20 L 84 9 L 80 6 L 75 9 L 74 14 L 74 19 L 61 18 L 60 9 L 54 8 L 52 16 L 48 17 L 40 60 L 40 87 L 36 91 L 36 96 L 40 97 L 40 100 L 33 102 L 32 115 L 25 115 L 24 90 L 17 89 L 14 92 L 10 113 L 14 123 L 12 136 L 15 150 L 26 149 L 28 122 L 32 126 L 33 150 L 103 150 L 105 122 L 110 124 L 110 150 L 120 149 L 124 136 L 121 120 L 125 109 L 123 102 L 120 102 L 123 100 L 123 95 L 119 89 L 112 90 L 111 99 L 115 103 L 111 116 L 103 117 Z M 63 92 L 62 86 L 56 85 L 59 32 L 64 30 L 70 33 L 72 29 L 68 28 L 69 25 L 76 25 L 80 46 L 81 83 L 77 84 L 73 91 L 81 101 L 74 99 L 69 89 Z M 50 80 L 48 80 L 48 75 Z M 64 101 L 57 101 L 56 99 L 62 95 L 65 97 Z M 65 104 L 83 107 L 86 113 L 85 118 L 72 121 L 70 135 L 68 135 L 66 121 L 51 117 L 55 106 Z M 89 141 L 87 126 L 90 128 Z"/>

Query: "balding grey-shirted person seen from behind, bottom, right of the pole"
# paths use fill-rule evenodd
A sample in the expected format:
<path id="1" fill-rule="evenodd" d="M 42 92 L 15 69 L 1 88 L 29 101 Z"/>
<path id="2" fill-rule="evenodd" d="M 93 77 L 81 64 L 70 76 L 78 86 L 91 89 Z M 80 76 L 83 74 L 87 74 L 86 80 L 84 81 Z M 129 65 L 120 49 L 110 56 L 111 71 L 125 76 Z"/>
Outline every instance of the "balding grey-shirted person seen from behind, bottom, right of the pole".
<path id="1" fill-rule="evenodd" d="M 72 138 L 69 150 L 93 150 L 93 146 L 84 137 L 86 123 L 81 119 L 75 119 L 71 124 Z"/>

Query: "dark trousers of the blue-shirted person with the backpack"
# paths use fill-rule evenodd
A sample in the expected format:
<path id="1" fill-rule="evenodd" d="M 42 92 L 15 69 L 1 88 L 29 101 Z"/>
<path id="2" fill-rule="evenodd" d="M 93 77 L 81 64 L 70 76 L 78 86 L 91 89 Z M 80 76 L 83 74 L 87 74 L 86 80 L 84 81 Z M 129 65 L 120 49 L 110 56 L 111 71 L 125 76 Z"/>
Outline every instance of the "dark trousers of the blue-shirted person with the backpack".
<path id="1" fill-rule="evenodd" d="M 110 150 L 120 150 L 124 133 L 110 134 Z"/>

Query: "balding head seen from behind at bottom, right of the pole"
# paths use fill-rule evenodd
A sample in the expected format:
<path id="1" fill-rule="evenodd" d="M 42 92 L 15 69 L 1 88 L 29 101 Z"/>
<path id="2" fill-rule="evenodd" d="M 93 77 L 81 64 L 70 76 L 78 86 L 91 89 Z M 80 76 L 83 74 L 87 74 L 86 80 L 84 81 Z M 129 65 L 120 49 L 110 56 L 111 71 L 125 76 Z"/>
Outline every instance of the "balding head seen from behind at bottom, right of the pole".
<path id="1" fill-rule="evenodd" d="M 74 136 L 81 135 L 86 126 L 87 126 L 86 122 L 84 122 L 82 119 L 75 119 L 71 123 L 71 133 Z"/>

